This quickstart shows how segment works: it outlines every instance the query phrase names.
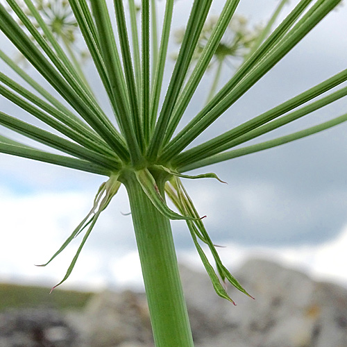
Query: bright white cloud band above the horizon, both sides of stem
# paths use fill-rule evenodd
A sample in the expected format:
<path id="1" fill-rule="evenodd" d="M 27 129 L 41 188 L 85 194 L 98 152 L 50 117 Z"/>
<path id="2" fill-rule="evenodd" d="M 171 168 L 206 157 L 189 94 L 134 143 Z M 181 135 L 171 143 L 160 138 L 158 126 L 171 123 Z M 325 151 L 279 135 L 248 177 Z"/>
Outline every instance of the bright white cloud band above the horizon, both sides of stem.
<path id="1" fill-rule="evenodd" d="M 24 281 L 55 285 L 62 279 L 71 262 L 78 240 L 67 248 L 59 260 L 45 268 L 33 264 L 53 254 L 90 209 L 93 196 L 80 192 L 15 196 L 0 187 L 1 242 L 0 278 L 2 281 Z M 117 198 L 117 197 L 116 197 Z M 120 201 L 124 197 L 119 197 Z M 109 211 L 108 213 L 114 213 Z M 106 219 L 109 219 L 107 216 Z M 130 220 L 121 217 L 121 226 L 113 232 L 96 230 L 81 253 L 73 274 L 65 287 L 99 289 L 107 286 L 142 288 L 139 257 L 134 248 L 107 242 L 112 233 L 124 235 Z M 129 225 L 128 225 L 128 224 Z M 101 222 L 103 224 L 103 222 Z M 93 241 L 105 237 L 105 248 Z M 124 236 L 123 236 L 124 237 Z M 129 233 L 132 238 L 132 233 Z M 347 285 L 347 226 L 339 236 L 317 246 L 254 247 L 234 243 L 219 248 L 222 259 L 231 271 L 248 257 L 267 257 L 310 273 L 316 279 L 327 279 Z M 178 258 L 202 269 L 196 251 L 179 251 Z"/>

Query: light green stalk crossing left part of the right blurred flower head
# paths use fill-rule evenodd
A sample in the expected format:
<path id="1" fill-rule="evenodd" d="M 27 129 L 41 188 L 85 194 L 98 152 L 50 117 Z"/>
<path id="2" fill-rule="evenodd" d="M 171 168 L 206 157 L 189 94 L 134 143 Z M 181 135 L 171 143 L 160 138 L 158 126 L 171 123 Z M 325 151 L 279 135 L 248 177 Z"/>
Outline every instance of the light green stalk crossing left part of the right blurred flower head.
<path id="1" fill-rule="evenodd" d="M 208 40 L 208 43 L 204 47 L 196 66 L 194 67 L 191 76 L 183 89 L 183 91 L 178 96 L 178 101 L 175 105 L 173 115 L 171 117 L 171 121 L 169 124 L 169 128 L 167 130 L 167 134 L 164 138 L 164 144 L 167 144 L 171 139 L 171 136 L 174 134 L 174 130 L 177 128 L 180 119 L 185 112 L 189 101 L 192 99 L 196 88 L 198 87 L 198 83 L 200 83 L 201 78 L 203 78 L 203 74 L 205 73 L 208 65 L 213 57 L 214 52 L 223 37 L 223 34 L 228 28 L 228 24 L 232 19 L 232 15 L 234 15 L 237 5 L 240 0 L 228 0 L 226 5 L 223 7 L 221 11 L 221 15 L 214 26 L 214 29 L 211 33 L 211 36 Z"/>

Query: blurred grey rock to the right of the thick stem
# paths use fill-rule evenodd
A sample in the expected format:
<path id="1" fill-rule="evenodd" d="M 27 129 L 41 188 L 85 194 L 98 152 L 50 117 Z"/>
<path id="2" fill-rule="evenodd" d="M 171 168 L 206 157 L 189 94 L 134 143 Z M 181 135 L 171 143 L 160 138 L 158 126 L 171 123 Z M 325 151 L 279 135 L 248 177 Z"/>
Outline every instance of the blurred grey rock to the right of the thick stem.
<path id="1" fill-rule="evenodd" d="M 249 260 L 235 277 L 253 301 L 236 289 L 229 305 L 214 294 L 205 273 L 182 268 L 192 326 L 212 321 L 212 337 L 195 331 L 197 347 L 346 347 L 347 290 L 314 282 L 304 273 L 267 260 Z M 213 323 L 214 322 L 214 323 Z M 204 324 L 203 324 L 204 326 Z M 211 334 L 211 332 L 209 332 Z M 200 337 L 203 337 L 202 339 Z"/>

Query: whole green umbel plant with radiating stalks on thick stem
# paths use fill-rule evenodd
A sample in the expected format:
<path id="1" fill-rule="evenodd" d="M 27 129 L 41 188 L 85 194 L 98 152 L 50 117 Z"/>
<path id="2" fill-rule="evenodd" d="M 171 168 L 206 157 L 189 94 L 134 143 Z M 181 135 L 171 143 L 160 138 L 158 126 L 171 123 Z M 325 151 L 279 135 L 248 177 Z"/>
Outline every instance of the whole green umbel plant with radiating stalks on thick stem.
<path id="1" fill-rule="evenodd" d="M 212 83 L 207 105 L 198 110 L 196 115 L 191 115 L 194 117 L 189 117 L 185 111 L 212 58 L 218 53 L 217 59 L 223 61 L 230 55 L 230 50 L 226 51 L 225 46 L 221 49 L 221 42 L 239 1 L 226 0 L 203 47 L 198 42 L 208 19 L 212 0 L 193 1 L 167 90 L 163 90 L 162 86 L 174 0 L 164 3 L 160 42 L 157 37 L 160 30 L 157 27 L 155 0 L 142 0 L 139 13 L 134 0 L 126 2 L 129 4 L 128 21 L 125 3 L 120 0 L 113 2 L 112 9 L 106 0 L 64 1 L 65 7 L 71 6 L 69 13 L 73 13 L 76 21 L 76 26 L 73 27 L 78 27 L 81 31 L 105 95 L 108 96 L 112 109 L 109 113 L 103 110 L 91 86 L 86 83 L 87 76 L 76 63 L 69 43 L 61 40 L 59 34 L 62 31 L 57 30 L 61 26 L 47 24 L 46 18 L 39 12 L 40 8 L 37 10 L 32 0 L 24 0 L 27 10 L 31 12 L 30 16 L 27 10 L 22 10 L 24 5 L 19 6 L 19 1 L 7 0 L 17 21 L 0 3 L 0 30 L 60 95 L 60 99 L 57 99 L 37 85 L 33 78 L 0 51 L 0 58 L 35 90 L 35 93 L 29 91 L 22 81 L 17 83 L 12 77 L 0 72 L 0 94 L 33 118 L 40 119 L 51 130 L 18 119 L 15 111 L 13 115 L 0 112 L 0 124 L 45 144 L 48 148 L 58 150 L 61 154 L 22 144 L 10 139 L 7 133 L 6 136 L 0 136 L 0 152 L 106 177 L 96 194 L 90 213 L 51 257 L 53 260 L 72 239 L 84 232 L 81 246 L 66 276 L 58 285 L 71 274 L 99 215 L 117 194 L 119 186 L 124 184 L 130 200 L 157 347 L 193 346 L 170 219 L 186 221 L 198 254 L 219 296 L 232 302 L 223 282 L 230 282 L 249 296 L 223 266 L 212 239 L 205 230 L 202 217 L 196 211 L 181 180 L 217 176 L 189 176 L 186 171 L 280 146 L 347 121 L 347 114 L 332 115 L 332 119 L 323 124 L 266 142 L 260 140 L 260 143 L 253 146 L 244 146 L 251 139 L 346 96 L 347 87 L 338 87 L 347 81 L 347 70 L 344 70 L 276 108 L 187 149 L 341 2 L 298 1 L 283 22 L 272 31 L 278 13 L 287 2 L 280 1 L 269 24 L 256 37 L 252 37 L 251 41 L 243 40 L 242 47 L 246 48 L 246 52 L 242 53 L 244 60 L 235 69 L 235 74 L 215 94 L 217 76 Z M 113 16 L 117 21 L 116 29 L 112 26 Z M 31 22 L 33 18 L 35 23 Z M 240 31 L 239 37 L 244 39 L 246 33 L 245 30 Z M 332 88 L 335 88 L 334 92 L 321 97 Z M 177 133 L 178 126 L 181 130 Z M 239 145 L 242 148 L 234 149 Z M 177 211 L 170 210 L 165 201 L 166 196 L 171 198 Z M 122 231 L 115 226 L 115 232 Z M 216 269 L 206 257 L 203 244 L 210 249 Z"/>

